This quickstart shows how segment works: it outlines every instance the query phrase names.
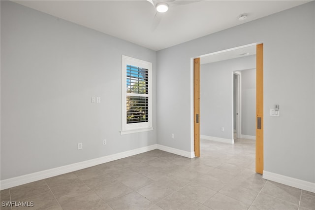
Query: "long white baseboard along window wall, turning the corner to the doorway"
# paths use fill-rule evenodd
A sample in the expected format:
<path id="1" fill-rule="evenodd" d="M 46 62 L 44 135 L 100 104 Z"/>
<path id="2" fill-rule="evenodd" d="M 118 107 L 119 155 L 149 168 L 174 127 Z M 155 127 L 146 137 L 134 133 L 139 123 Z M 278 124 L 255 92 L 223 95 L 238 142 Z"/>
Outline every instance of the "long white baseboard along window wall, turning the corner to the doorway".
<path id="1" fill-rule="evenodd" d="M 70 172 L 74 172 L 77 170 L 89 168 L 89 167 L 96 166 L 96 165 L 103 164 L 103 163 L 107 163 L 110 161 L 126 158 L 126 157 L 129 157 L 132 155 L 137 155 L 137 154 L 140 154 L 143 152 L 148 152 L 148 151 L 151 151 L 154 149 L 163 150 L 166 152 L 174 153 L 174 154 L 181 155 L 181 156 L 188 157 L 188 158 L 195 157 L 194 152 L 187 152 L 187 151 L 175 149 L 175 148 L 168 147 L 168 146 L 153 144 L 150 146 L 145 146 L 145 147 L 141 147 L 141 148 L 137 148 L 137 149 L 133 149 L 133 150 L 117 153 L 117 154 L 107 155 L 107 156 L 95 158 L 92 160 L 87 160 L 87 161 L 74 163 L 74 164 L 70 164 L 70 165 L 66 165 L 66 166 L 62 166 L 62 167 L 48 169 L 45 171 L 35 172 L 32 174 L 28 174 L 28 175 L 21 175 L 21 176 L 17 176 L 17 177 L 13 177 L 13 178 L 3 179 L 3 180 L 0 180 L 0 190 L 19 186 L 22 184 L 27 184 L 27 183 L 30 183 L 33 181 L 38 181 L 38 180 L 45 179 L 45 178 L 50 178 L 50 177 L 53 177 L 56 175 L 63 175 L 66 173 L 70 173 Z"/>

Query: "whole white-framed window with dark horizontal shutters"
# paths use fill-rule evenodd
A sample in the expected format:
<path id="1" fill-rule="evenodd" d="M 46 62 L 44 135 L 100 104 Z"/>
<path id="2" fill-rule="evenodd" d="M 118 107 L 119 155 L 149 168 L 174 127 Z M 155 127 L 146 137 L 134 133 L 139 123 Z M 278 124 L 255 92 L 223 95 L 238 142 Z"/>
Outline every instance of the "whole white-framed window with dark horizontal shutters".
<path id="1" fill-rule="evenodd" d="M 152 63 L 123 56 L 121 134 L 151 131 Z"/>

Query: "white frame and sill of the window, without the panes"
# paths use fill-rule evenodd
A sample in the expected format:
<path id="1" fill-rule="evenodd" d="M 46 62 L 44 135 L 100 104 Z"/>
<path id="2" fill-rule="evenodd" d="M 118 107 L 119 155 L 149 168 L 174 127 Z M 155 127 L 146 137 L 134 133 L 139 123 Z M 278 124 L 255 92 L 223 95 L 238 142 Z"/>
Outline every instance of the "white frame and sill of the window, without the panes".
<path id="1" fill-rule="evenodd" d="M 126 113 L 126 97 L 129 95 L 126 91 L 127 75 L 126 66 L 136 66 L 148 70 L 148 122 L 127 123 Z M 141 95 L 139 95 L 141 96 Z M 143 95 L 142 95 L 143 96 Z M 128 56 L 122 56 L 122 130 L 121 135 L 131 134 L 144 131 L 152 131 L 152 63 L 142 61 L 139 59 L 131 58 Z"/>

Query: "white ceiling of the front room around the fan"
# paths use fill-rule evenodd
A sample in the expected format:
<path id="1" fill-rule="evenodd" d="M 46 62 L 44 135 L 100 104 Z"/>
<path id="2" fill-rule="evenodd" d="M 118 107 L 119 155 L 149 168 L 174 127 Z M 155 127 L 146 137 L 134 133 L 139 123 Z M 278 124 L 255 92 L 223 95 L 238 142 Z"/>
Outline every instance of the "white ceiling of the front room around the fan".
<path id="1" fill-rule="evenodd" d="M 155 3 L 159 1 L 163 0 Z M 147 0 L 14 0 L 153 50 L 209 35 L 310 0 L 172 1 L 168 1 L 169 10 L 161 14 L 158 27 L 153 29 L 156 10 Z M 248 13 L 248 18 L 239 21 L 238 16 L 243 13 Z"/>

